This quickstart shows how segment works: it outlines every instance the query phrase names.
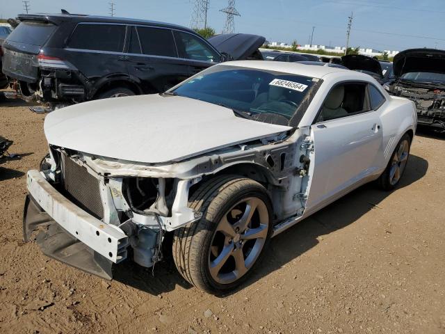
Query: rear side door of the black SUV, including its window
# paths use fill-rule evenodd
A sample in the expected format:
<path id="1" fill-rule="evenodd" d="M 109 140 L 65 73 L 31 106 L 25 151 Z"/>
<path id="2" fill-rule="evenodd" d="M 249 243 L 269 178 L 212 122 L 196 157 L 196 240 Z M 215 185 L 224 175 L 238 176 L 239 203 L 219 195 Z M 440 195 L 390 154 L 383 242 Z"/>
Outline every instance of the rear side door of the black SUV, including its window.
<path id="1" fill-rule="evenodd" d="M 130 77 L 144 93 L 161 93 L 190 77 L 188 63 L 178 57 L 171 29 L 130 26 L 128 53 L 124 57 Z"/>

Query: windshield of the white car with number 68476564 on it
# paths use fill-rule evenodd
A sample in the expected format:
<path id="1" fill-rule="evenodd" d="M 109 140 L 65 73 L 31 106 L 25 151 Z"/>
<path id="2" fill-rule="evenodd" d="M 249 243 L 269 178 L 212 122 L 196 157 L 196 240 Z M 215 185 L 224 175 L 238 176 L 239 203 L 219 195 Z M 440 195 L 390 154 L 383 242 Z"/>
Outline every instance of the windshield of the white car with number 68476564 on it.
<path id="1" fill-rule="evenodd" d="M 241 117 L 289 125 L 318 81 L 297 74 L 216 65 L 168 93 L 225 106 Z"/>

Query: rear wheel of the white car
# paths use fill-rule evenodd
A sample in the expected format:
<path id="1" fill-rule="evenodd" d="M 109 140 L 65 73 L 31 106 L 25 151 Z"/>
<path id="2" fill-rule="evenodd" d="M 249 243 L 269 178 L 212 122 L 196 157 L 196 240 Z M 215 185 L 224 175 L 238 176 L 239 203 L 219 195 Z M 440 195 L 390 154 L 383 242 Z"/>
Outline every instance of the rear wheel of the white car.
<path id="1" fill-rule="evenodd" d="M 411 137 L 404 134 L 397 143 L 387 168 L 378 178 L 378 183 L 383 190 L 390 191 L 396 188 L 400 182 L 410 157 Z"/>

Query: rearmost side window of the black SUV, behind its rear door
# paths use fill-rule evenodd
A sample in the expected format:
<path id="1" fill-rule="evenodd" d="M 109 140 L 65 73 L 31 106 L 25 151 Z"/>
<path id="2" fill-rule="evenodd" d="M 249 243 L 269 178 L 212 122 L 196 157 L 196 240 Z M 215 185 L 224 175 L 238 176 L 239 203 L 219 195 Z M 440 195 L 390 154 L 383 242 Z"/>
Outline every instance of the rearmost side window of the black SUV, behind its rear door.
<path id="1" fill-rule="evenodd" d="M 79 24 L 68 42 L 72 49 L 122 52 L 125 26 L 113 24 Z"/>

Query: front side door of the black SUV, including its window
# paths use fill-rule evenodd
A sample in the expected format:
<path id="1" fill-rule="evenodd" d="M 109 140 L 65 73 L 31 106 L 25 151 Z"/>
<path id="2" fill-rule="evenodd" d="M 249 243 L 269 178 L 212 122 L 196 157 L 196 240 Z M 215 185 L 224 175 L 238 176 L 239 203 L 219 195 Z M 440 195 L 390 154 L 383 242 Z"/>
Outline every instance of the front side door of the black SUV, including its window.
<path id="1" fill-rule="evenodd" d="M 220 63 L 220 54 L 202 38 L 186 31 L 175 30 L 173 34 L 179 58 L 187 61 L 190 76 Z"/>

